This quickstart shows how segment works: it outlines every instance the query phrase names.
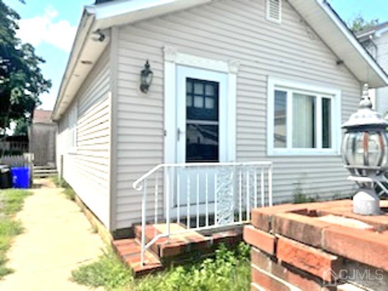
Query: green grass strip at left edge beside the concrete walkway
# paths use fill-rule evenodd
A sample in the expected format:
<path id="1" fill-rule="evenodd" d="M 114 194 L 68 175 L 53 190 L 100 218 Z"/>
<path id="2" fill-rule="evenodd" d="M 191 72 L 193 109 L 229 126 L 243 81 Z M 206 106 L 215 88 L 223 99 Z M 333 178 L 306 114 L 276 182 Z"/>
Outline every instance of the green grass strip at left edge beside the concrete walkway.
<path id="1" fill-rule="evenodd" d="M 23 207 L 23 201 L 29 192 L 25 190 L 7 189 L 0 191 L 0 279 L 13 272 L 7 268 L 6 253 L 16 235 L 23 232 L 21 223 L 14 214 Z"/>

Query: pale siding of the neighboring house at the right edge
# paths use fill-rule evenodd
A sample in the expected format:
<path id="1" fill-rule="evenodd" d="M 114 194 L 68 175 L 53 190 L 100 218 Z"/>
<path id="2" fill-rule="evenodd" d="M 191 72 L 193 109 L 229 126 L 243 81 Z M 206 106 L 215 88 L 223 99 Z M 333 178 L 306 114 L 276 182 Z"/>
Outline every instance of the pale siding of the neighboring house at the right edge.
<path id="1" fill-rule="evenodd" d="M 388 72 L 388 32 L 375 40 L 377 46 L 377 63 Z M 388 87 L 376 90 L 376 109 L 386 115 L 388 113 Z"/>

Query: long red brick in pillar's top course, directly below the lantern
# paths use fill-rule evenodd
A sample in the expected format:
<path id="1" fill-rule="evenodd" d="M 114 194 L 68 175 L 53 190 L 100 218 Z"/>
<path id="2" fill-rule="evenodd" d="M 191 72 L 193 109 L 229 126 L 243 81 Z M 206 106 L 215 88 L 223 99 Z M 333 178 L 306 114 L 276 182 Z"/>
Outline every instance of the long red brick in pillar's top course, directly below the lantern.
<path id="1" fill-rule="evenodd" d="M 345 226 L 323 230 L 323 249 L 388 271 L 387 236 Z"/>

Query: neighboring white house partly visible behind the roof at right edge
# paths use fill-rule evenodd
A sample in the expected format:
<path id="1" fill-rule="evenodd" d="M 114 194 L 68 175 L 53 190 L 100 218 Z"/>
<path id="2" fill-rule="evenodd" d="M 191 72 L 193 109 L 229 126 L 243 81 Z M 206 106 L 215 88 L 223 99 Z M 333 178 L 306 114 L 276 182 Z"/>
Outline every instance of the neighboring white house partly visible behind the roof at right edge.
<path id="1" fill-rule="evenodd" d="M 388 21 L 356 34 L 361 44 L 370 52 L 376 62 L 388 72 Z M 384 116 L 388 114 L 388 87 L 372 91 L 374 106 Z"/>

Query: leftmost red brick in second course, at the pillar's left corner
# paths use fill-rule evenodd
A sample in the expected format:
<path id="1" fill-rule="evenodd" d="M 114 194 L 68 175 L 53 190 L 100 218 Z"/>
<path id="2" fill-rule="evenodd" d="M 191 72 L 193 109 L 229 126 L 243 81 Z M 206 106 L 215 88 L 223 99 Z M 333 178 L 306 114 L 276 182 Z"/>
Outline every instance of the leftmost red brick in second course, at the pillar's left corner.
<path id="1" fill-rule="evenodd" d="M 270 254 L 275 254 L 275 236 L 253 226 L 244 226 L 244 241 Z"/>

